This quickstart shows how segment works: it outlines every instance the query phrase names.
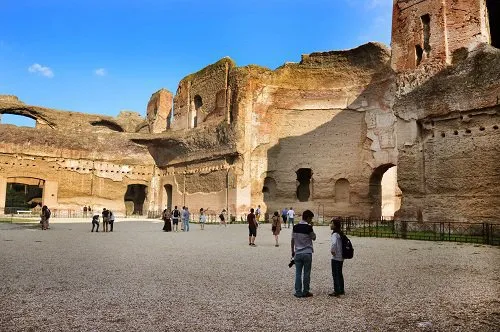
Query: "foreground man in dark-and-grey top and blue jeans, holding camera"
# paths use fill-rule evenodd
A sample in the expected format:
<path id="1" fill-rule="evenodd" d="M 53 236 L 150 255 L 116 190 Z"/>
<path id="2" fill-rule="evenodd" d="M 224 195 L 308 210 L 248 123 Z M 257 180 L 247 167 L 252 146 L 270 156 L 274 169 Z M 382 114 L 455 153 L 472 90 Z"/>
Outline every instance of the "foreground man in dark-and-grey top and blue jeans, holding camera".
<path id="1" fill-rule="evenodd" d="M 301 222 L 293 226 L 291 249 L 295 260 L 295 293 L 293 294 L 295 297 L 313 296 L 310 292 L 313 241 L 316 240 L 312 227 L 313 218 L 314 213 L 305 210 L 302 213 Z M 302 272 L 304 278 L 302 278 Z"/>

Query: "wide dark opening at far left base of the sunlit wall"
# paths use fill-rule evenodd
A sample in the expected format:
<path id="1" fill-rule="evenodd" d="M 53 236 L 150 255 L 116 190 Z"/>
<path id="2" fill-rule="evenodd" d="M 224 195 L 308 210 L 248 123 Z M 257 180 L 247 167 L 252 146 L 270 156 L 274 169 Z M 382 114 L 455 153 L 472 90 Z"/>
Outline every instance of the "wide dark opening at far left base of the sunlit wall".
<path id="1" fill-rule="evenodd" d="M 37 178 L 7 178 L 5 213 L 41 209 L 45 181 Z"/>

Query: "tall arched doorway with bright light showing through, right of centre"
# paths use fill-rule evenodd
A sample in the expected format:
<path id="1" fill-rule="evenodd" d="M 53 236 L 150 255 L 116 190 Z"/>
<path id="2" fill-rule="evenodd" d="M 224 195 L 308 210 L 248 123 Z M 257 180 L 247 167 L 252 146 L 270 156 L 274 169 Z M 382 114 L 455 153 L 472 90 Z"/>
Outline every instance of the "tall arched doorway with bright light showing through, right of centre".
<path id="1" fill-rule="evenodd" d="M 369 196 L 371 199 L 370 219 L 392 218 L 399 209 L 401 200 L 397 187 L 397 169 L 394 164 L 384 164 L 373 170 L 370 177 Z M 389 169 L 392 171 L 388 172 Z M 386 175 L 387 174 L 387 175 Z M 385 207 L 385 209 L 383 209 Z M 384 213 L 383 213 L 384 212 Z"/>

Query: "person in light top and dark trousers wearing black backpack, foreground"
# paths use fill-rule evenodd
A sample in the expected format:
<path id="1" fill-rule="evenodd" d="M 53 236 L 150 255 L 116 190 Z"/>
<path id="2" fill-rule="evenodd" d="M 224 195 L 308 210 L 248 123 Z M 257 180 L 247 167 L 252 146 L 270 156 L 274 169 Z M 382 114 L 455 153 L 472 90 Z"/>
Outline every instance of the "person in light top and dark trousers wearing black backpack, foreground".
<path id="1" fill-rule="evenodd" d="M 332 232 L 330 253 L 332 254 L 332 278 L 333 278 L 333 292 L 328 294 L 330 296 L 344 295 L 344 275 L 342 274 L 342 267 L 344 265 L 344 258 L 342 253 L 342 230 L 340 220 L 333 220 L 330 224 Z"/>

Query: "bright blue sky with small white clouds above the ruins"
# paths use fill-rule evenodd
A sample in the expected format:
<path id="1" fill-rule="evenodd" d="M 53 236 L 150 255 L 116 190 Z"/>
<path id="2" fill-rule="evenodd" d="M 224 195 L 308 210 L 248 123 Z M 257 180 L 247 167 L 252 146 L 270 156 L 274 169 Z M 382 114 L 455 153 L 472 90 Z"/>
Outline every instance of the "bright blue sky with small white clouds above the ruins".
<path id="1" fill-rule="evenodd" d="M 274 69 L 303 53 L 389 45 L 392 1 L 0 0 L 0 94 L 144 115 L 153 92 L 175 93 L 224 56 Z"/>

